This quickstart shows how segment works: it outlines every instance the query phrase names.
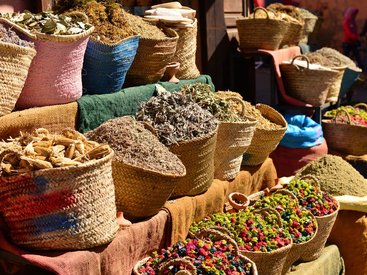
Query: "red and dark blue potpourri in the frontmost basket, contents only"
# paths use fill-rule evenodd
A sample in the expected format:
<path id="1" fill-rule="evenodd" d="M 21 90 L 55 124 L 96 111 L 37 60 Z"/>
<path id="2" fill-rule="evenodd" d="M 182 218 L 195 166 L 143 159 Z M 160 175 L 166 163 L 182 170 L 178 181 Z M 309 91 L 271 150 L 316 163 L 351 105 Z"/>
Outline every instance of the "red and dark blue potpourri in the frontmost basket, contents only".
<path id="1" fill-rule="evenodd" d="M 178 242 L 173 247 L 162 249 L 160 253 L 153 252 L 153 257 L 149 258 L 138 272 L 142 275 L 157 275 L 164 264 L 183 257 L 195 265 L 197 274 L 252 275 L 251 264 L 244 263 L 239 256 L 236 256 L 231 244 L 227 244 L 225 240 L 212 242 L 210 238 L 200 240 L 196 237 Z M 185 269 L 184 265 L 174 265 L 171 270 L 167 270 L 163 274 L 173 275 L 182 269 Z"/>

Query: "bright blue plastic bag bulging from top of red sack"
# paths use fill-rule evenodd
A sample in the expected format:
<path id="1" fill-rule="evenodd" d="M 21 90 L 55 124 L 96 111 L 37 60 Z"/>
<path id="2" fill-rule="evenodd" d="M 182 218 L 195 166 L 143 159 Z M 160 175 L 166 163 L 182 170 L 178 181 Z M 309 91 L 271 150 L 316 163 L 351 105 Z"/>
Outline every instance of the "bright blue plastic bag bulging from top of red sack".
<path id="1" fill-rule="evenodd" d="M 288 148 L 309 148 L 323 143 L 323 132 L 317 124 L 306 115 L 284 115 L 288 122 L 286 134 L 279 145 Z"/>

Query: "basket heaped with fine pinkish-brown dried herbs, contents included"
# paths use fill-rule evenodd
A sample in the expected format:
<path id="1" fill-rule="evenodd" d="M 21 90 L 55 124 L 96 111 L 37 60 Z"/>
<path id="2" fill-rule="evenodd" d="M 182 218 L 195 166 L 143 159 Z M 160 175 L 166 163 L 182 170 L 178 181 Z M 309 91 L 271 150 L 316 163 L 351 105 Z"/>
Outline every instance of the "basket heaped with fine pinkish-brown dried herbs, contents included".
<path id="1" fill-rule="evenodd" d="M 115 151 L 112 177 L 116 207 L 124 217 L 138 221 L 159 212 L 186 170 L 176 155 L 164 146 L 153 127 L 134 117 L 104 122 L 86 137 L 107 142 Z"/>

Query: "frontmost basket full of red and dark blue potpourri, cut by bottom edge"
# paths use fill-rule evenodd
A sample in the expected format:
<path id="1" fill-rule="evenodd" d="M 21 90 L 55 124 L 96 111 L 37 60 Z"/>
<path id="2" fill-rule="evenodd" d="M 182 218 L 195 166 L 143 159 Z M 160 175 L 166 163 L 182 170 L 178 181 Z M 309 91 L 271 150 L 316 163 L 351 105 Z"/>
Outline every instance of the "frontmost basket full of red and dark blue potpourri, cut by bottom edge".
<path id="1" fill-rule="evenodd" d="M 209 235 L 210 238 L 204 238 Z M 207 229 L 198 237 L 178 242 L 172 247 L 139 261 L 134 275 L 160 274 L 241 274 L 257 275 L 253 261 L 243 256 L 236 242 L 216 230 Z"/>

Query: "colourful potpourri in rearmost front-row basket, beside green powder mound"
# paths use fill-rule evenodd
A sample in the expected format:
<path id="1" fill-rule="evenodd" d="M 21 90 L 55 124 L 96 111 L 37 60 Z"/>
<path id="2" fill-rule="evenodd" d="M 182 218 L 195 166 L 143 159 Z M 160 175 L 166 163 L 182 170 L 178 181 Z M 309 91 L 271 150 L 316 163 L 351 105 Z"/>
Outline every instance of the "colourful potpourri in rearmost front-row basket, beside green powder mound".
<path id="1" fill-rule="evenodd" d="M 291 181 L 283 187 L 297 196 L 299 207 L 307 209 L 315 217 L 332 214 L 338 209 L 338 202 L 329 192 L 320 191 L 304 180 Z"/>

